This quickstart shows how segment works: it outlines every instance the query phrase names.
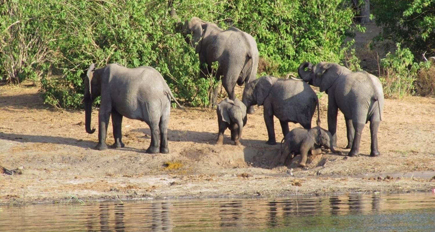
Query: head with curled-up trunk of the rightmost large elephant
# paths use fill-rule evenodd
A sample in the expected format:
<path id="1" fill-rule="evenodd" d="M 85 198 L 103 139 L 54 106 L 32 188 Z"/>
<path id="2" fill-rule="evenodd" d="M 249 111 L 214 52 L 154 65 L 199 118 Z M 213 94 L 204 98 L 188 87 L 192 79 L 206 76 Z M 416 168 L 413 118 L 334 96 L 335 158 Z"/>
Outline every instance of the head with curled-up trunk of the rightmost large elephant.
<path id="1" fill-rule="evenodd" d="M 348 72 L 351 71 L 346 67 L 327 62 L 320 62 L 316 65 L 304 62 L 298 68 L 299 77 L 308 84 L 319 87 L 321 92 L 327 91 L 340 75 Z"/>

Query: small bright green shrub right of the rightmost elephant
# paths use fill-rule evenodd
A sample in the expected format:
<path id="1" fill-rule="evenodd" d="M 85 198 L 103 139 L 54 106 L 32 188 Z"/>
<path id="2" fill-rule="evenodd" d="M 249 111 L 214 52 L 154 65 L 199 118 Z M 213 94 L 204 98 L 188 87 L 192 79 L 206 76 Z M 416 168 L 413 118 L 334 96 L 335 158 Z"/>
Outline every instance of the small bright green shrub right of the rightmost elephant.
<path id="1" fill-rule="evenodd" d="M 396 44 L 396 47 L 395 53 L 389 52 L 381 60 L 384 75 L 380 79 L 384 86 L 384 94 L 390 98 L 402 98 L 414 94 L 414 82 L 418 71 L 427 65 L 424 62 L 420 64 L 414 62 L 414 55 L 408 48 L 402 49 L 400 44 Z"/>

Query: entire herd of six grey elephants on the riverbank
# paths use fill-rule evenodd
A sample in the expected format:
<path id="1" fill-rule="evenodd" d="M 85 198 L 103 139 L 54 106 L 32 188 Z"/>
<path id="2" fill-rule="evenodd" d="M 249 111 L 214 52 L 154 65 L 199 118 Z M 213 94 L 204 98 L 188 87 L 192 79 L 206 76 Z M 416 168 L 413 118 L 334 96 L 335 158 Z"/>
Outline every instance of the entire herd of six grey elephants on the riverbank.
<path id="1" fill-rule="evenodd" d="M 247 123 L 247 114 L 254 113 L 253 106 L 263 106 L 264 123 L 268 131 L 268 145 L 275 145 L 274 116 L 281 124 L 284 135 L 284 155 L 301 154 L 300 166 L 306 165 L 308 152 L 319 152 L 323 146 L 335 153 L 337 147 L 337 113 L 344 114 L 347 128 L 349 156 L 358 155 L 361 132 L 370 121 L 371 156 L 378 156 L 378 127 L 384 105 L 384 94 L 379 79 L 365 71 L 353 72 L 334 63 L 304 62 L 298 68 L 301 79 L 278 79 L 264 76 L 258 79 L 258 49 L 251 35 L 231 27 L 222 30 L 216 24 L 207 23 L 197 17 L 184 23 L 179 21 L 176 31 L 184 35 L 188 44 L 199 55 L 201 75 L 213 73 L 222 79 L 228 98 L 217 104 L 218 140 L 223 143 L 224 131 L 231 130 L 231 140 L 240 145 L 242 129 Z M 212 64 L 218 62 L 217 70 Z M 96 69 L 91 64 L 85 83 L 85 127 L 90 128 L 92 103 L 101 96 L 98 113 L 98 144 L 104 150 L 107 125 L 112 116 L 114 144 L 122 148 L 122 118 L 138 119 L 148 124 L 151 144 L 147 153 L 168 153 L 167 125 L 171 110 L 171 99 L 177 100 L 162 75 L 153 67 L 127 68 L 120 64 L 109 64 Z M 245 84 L 242 100 L 234 94 L 235 85 Z M 311 119 L 318 107 L 318 97 L 310 85 L 328 94 L 328 131 L 318 126 L 311 128 Z M 212 94 L 216 104 L 218 88 Z M 180 106 L 180 104 L 178 104 Z M 181 106 L 180 106 L 181 107 Z M 182 107 L 181 107 L 182 108 Z M 319 111 L 319 108 L 318 108 Z M 288 122 L 299 123 L 303 128 L 289 131 Z M 282 143 L 282 141 L 281 141 Z"/>

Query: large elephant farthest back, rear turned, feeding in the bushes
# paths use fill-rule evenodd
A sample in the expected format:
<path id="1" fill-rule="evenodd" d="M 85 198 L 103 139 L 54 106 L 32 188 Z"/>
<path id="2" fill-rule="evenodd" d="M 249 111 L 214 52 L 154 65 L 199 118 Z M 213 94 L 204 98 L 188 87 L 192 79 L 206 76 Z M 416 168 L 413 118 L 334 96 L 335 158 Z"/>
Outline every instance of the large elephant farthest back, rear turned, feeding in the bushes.
<path id="1" fill-rule="evenodd" d="M 222 30 L 216 24 L 208 23 L 200 18 L 192 17 L 184 24 L 178 23 L 177 31 L 181 32 L 186 42 L 195 48 L 201 63 L 201 76 L 206 77 L 212 73 L 211 65 L 218 61 L 218 70 L 213 74 L 218 79 L 222 77 L 222 85 L 228 93 L 228 98 L 236 99 L 234 87 L 236 83 L 254 81 L 257 76 L 258 49 L 254 38 L 231 27 Z M 188 35 L 192 35 L 191 39 Z M 213 104 L 216 104 L 218 87 L 213 90 Z M 254 113 L 254 108 L 248 109 Z"/>

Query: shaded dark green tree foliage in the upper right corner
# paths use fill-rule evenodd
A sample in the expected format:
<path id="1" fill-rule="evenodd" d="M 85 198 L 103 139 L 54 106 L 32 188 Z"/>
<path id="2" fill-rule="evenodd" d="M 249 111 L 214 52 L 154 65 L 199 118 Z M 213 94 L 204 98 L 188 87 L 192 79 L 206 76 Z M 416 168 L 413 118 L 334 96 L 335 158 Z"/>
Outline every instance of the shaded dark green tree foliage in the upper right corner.
<path id="1" fill-rule="evenodd" d="M 415 57 L 435 55 L 435 0 L 372 0 L 383 37 L 409 47 Z"/>

